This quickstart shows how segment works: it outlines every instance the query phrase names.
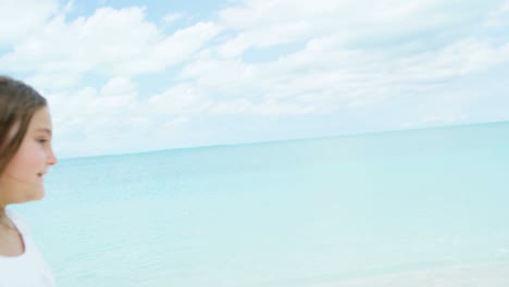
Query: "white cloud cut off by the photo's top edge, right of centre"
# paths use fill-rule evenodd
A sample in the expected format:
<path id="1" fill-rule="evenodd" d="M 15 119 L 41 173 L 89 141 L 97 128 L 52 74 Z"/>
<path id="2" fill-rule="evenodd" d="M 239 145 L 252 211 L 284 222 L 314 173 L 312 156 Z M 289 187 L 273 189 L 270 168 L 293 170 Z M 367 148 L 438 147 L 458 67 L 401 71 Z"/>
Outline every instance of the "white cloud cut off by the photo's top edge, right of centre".
<path id="1" fill-rule="evenodd" d="M 238 57 L 250 47 L 266 48 L 331 34 L 347 43 L 377 35 L 395 36 L 443 26 L 452 18 L 436 10 L 439 1 L 240 1 L 219 12 L 221 24 L 237 33 L 220 48 Z"/>

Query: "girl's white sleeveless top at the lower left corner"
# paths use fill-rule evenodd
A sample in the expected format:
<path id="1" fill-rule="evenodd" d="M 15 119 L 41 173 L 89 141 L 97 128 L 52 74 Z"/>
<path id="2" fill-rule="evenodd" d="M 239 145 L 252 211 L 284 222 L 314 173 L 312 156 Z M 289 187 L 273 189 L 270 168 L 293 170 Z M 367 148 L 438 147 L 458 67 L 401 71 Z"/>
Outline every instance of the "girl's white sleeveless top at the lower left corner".
<path id="1" fill-rule="evenodd" d="M 15 212 L 5 213 L 23 236 L 25 251 L 17 257 L 0 255 L 0 287 L 54 287 L 54 279 L 37 249 L 26 222 Z"/>

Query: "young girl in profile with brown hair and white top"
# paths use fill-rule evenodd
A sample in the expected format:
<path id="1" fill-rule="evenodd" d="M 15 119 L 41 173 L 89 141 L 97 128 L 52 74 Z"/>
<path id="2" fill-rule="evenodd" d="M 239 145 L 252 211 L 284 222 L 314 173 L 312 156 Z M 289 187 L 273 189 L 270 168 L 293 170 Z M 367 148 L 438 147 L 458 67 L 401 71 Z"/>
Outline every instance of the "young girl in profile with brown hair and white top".
<path id="1" fill-rule="evenodd" d="M 45 196 L 42 178 L 57 163 L 46 99 L 0 75 L 0 287 L 54 286 L 28 225 L 7 209 Z"/>

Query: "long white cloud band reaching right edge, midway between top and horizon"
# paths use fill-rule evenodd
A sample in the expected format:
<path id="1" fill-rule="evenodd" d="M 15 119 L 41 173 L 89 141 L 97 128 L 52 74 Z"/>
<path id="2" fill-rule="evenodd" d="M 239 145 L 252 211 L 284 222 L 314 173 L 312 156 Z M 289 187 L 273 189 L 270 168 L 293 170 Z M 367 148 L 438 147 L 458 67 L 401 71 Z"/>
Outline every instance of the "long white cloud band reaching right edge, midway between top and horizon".
<path id="1" fill-rule="evenodd" d="M 268 63 L 224 59 L 208 50 L 187 64 L 181 76 L 209 95 L 219 95 L 214 113 L 322 114 L 397 97 L 426 97 L 451 80 L 509 61 L 509 45 L 488 38 L 470 37 L 401 54 L 349 49 L 343 43 L 340 35 L 315 37 L 303 49 Z"/>

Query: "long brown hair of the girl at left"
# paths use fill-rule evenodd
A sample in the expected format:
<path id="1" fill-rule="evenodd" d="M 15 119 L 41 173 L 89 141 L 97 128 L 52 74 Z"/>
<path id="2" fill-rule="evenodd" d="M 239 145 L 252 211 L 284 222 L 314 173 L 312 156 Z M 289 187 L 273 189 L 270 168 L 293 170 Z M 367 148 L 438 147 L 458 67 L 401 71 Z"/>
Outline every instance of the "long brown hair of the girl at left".
<path id="1" fill-rule="evenodd" d="M 46 99 L 34 88 L 0 75 L 0 174 L 20 148 L 32 117 L 44 107 Z"/>

